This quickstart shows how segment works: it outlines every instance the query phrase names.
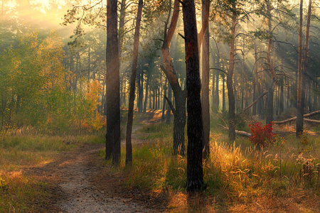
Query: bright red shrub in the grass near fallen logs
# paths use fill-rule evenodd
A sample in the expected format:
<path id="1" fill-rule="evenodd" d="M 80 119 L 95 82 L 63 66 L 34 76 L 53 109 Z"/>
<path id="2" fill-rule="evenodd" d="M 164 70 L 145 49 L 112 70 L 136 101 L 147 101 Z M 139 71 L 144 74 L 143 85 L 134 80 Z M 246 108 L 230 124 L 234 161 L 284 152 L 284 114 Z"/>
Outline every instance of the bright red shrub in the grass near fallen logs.
<path id="1" fill-rule="evenodd" d="M 266 124 L 262 126 L 260 122 L 250 124 L 251 134 L 250 141 L 257 146 L 257 148 L 265 148 L 271 146 L 274 143 L 274 135 L 272 133 L 272 124 Z"/>

